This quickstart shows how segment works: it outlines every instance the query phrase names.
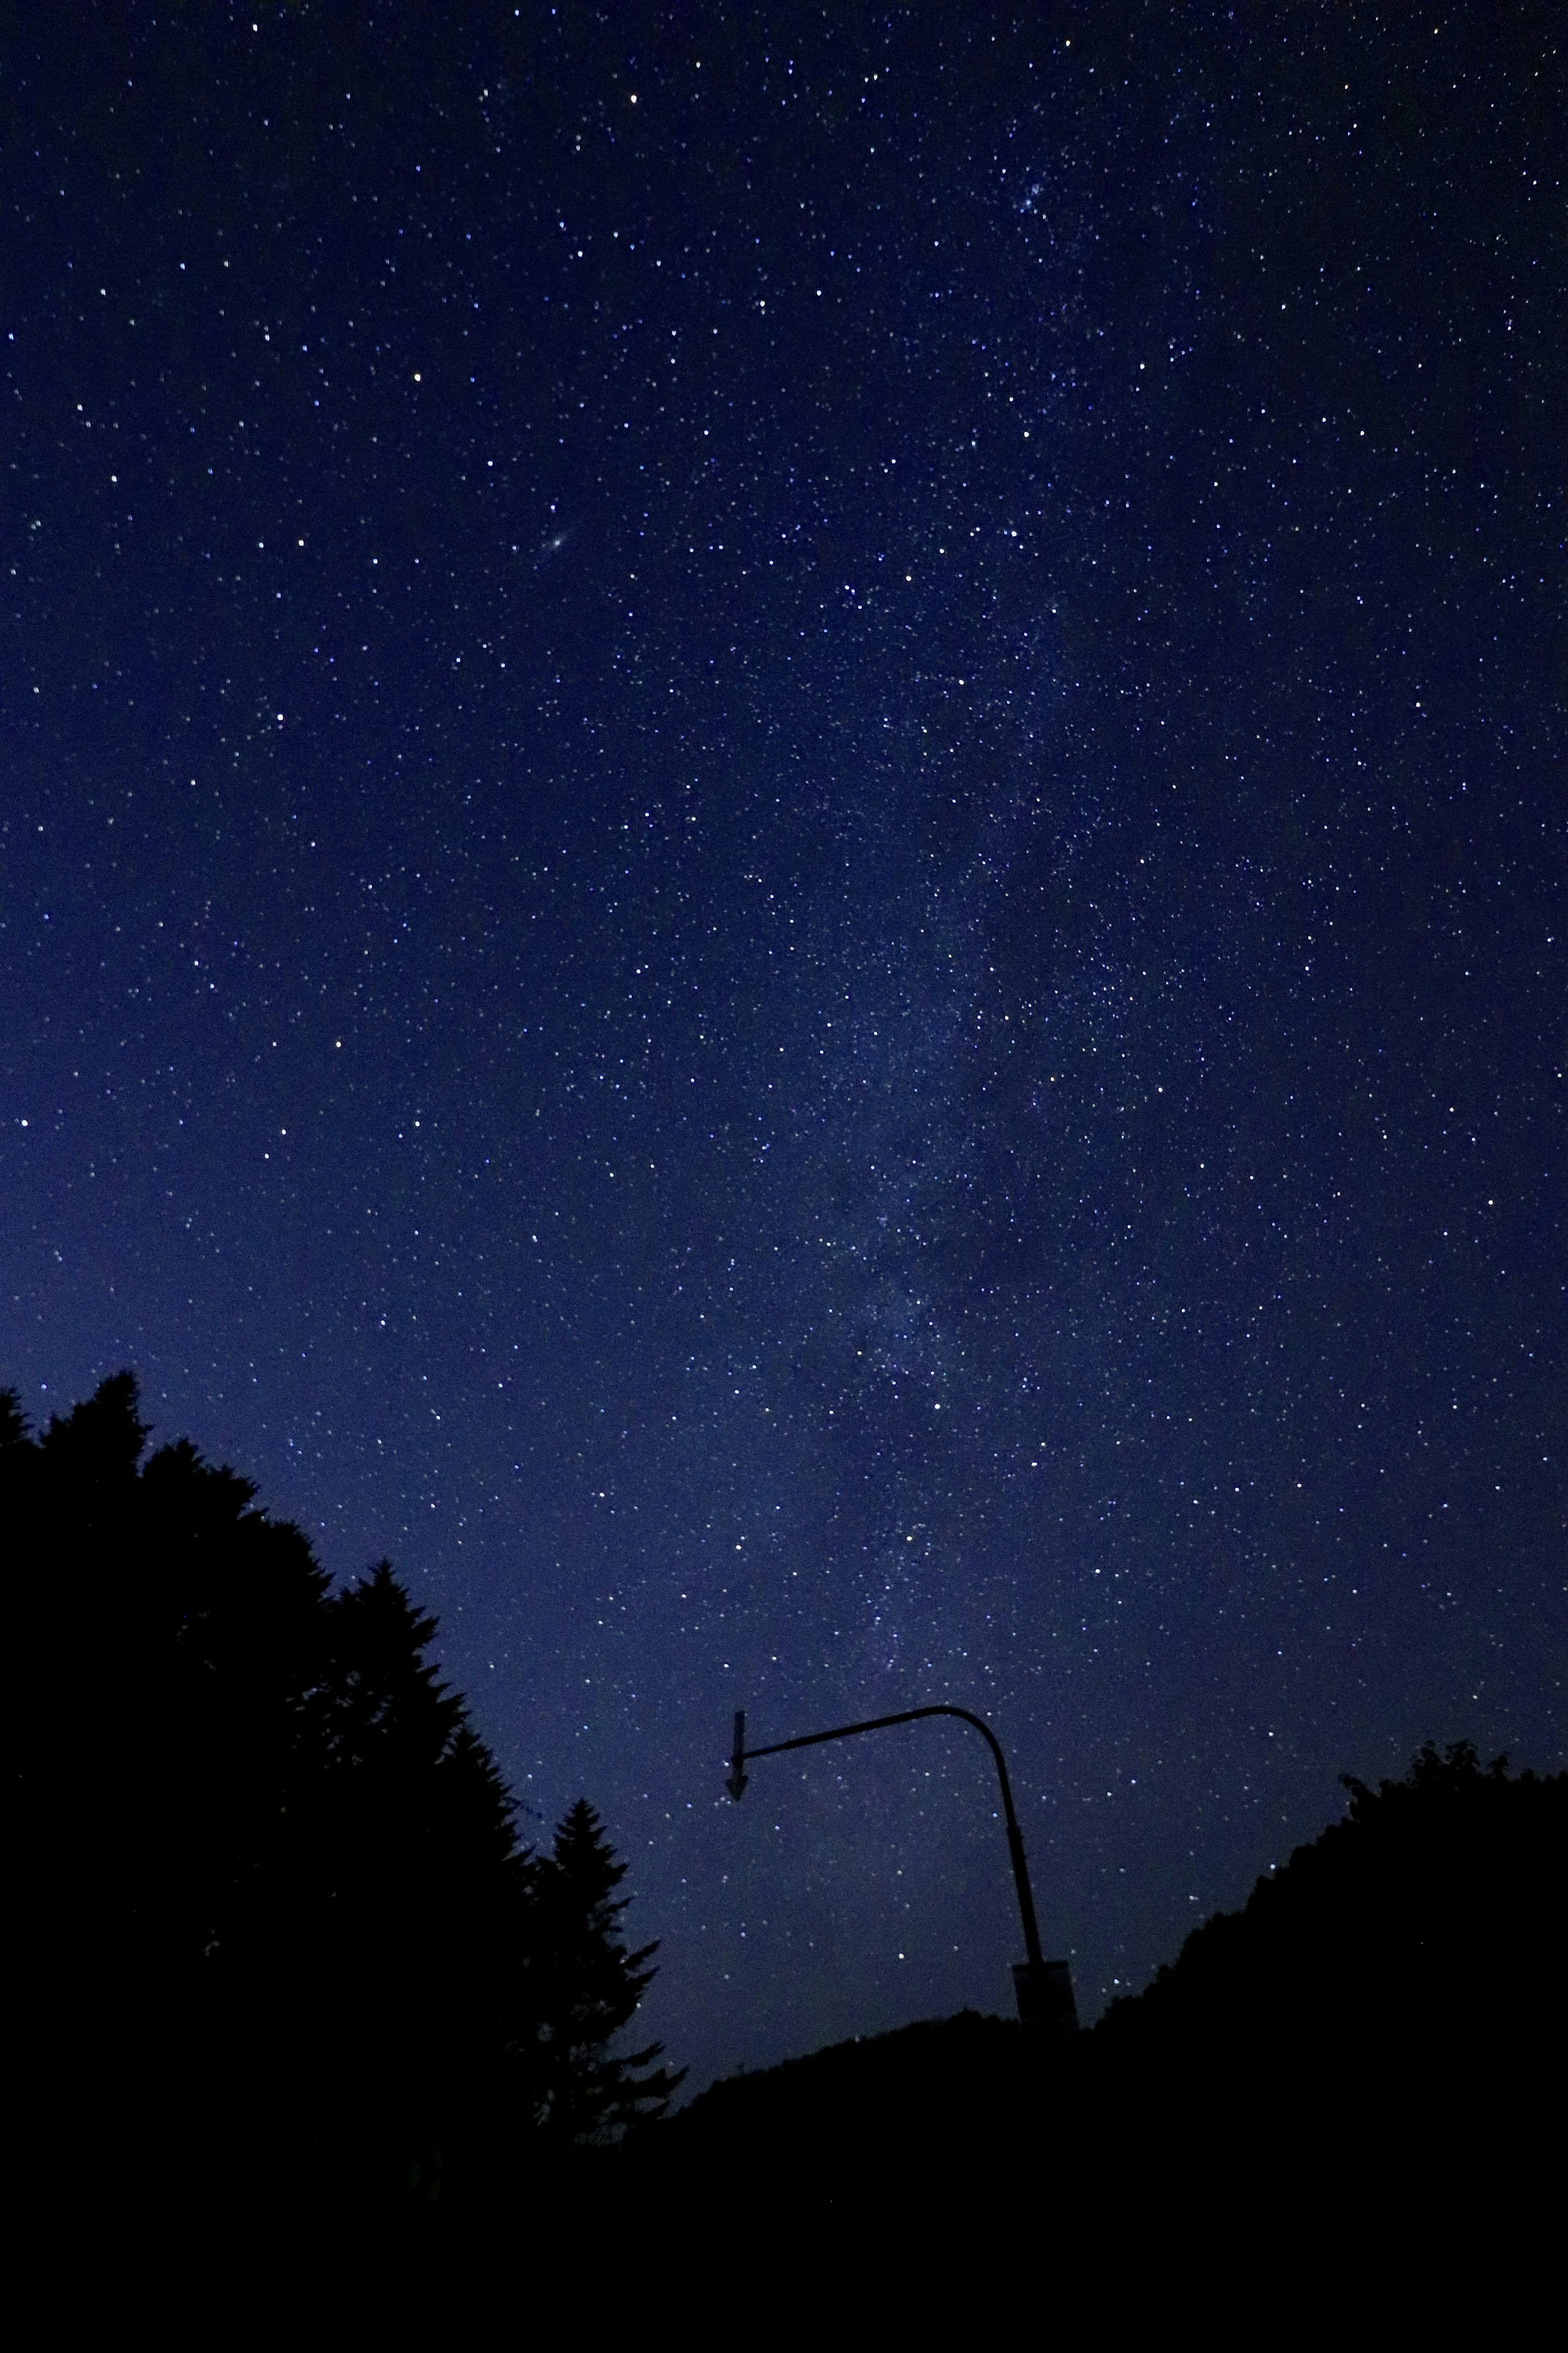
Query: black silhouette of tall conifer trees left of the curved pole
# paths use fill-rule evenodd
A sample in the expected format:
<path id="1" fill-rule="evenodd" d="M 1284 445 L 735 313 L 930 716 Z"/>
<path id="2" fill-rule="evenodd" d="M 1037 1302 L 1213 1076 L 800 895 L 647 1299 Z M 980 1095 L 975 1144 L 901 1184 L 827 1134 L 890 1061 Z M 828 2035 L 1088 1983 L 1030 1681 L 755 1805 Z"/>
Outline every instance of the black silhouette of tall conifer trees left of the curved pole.
<path id="1" fill-rule="evenodd" d="M 661 2113 L 658 2049 L 614 2047 L 654 1946 L 592 1809 L 524 1849 L 390 1567 L 334 1593 L 249 1480 L 146 1438 L 129 1374 L 38 1438 L 0 1393 L 31 2014 L 75 2165 L 386 2209 Z"/>

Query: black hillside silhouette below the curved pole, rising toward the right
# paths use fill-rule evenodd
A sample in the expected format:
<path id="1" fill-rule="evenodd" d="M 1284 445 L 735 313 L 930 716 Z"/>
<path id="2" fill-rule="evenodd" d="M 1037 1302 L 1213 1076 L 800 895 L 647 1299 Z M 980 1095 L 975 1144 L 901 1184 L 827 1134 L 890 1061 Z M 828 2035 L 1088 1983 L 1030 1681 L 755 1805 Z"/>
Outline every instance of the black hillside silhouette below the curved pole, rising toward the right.
<path id="1" fill-rule="evenodd" d="M 1427 1748 L 1091 2033 L 966 2012 L 724 2080 L 562 2181 L 562 2242 L 614 2217 L 741 2334 L 1009 2299 L 1495 2327 L 1561 2240 L 1566 1889 L 1568 1777 Z"/>

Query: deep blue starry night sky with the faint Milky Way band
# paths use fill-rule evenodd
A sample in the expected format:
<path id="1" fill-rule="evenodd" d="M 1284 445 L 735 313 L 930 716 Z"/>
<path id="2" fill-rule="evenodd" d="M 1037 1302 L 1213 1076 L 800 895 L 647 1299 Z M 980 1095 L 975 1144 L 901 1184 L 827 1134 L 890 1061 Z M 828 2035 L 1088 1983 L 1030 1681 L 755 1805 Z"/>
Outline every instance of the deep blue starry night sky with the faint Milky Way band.
<path id="1" fill-rule="evenodd" d="M 1563 1765 L 1563 16 L 0 54 L 0 1379 L 388 1553 L 693 2087 Z M 68 1694 L 68 1661 L 45 1661 Z"/>

